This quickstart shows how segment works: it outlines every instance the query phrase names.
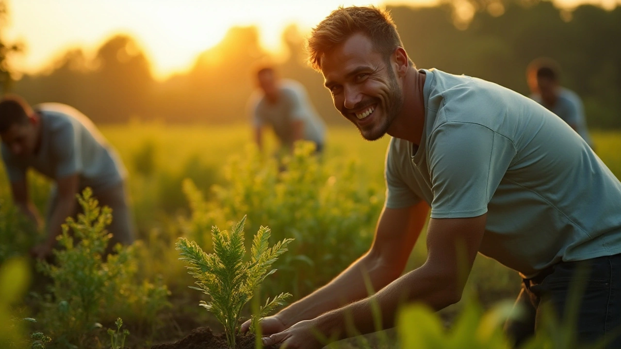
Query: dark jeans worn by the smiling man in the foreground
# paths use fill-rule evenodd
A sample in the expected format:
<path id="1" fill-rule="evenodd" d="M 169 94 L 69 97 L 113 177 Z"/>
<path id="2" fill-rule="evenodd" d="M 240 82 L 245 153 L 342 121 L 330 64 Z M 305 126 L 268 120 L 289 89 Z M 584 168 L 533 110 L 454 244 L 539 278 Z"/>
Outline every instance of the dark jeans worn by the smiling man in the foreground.
<path id="1" fill-rule="evenodd" d="M 515 306 L 521 306 L 525 316 L 505 324 L 505 332 L 514 340 L 515 347 L 535 334 L 543 307 L 551 306 L 558 319 L 567 317 L 568 297 L 576 283 L 582 283 L 583 290 L 577 306 L 579 343 L 605 338 L 609 341 L 606 348 L 621 348 L 621 336 L 617 335 L 621 330 L 621 254 L 561 262 L 535 278 L 524 279 Z"/>

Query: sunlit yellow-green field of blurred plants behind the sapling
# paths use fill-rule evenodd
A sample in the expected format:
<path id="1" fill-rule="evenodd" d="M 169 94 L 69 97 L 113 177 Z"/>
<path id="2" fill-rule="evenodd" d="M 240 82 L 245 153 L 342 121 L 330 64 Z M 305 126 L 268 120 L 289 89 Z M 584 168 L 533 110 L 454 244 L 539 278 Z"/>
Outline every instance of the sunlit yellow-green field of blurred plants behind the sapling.
<path id="1" fill-rule="evenodd" d="M 128 338 L 132 348 L 183 337 L 200 325 L 218 326 L 211 315 L 197 307 L 202 294 L 187 287 L 193 280 L 177 260 L 174 243 L 178 237 L 196 240 L 209 250 L 211 225 L 230 229 L 230 224 L 245 214 L 248 236 L 259 225 L 268 225 L 274 241 L 295 237 L 289 252 L 276 265 L 278 273 L 270 276 L 263 288 L 270 295 L 291 292 L 294 299 L 335 276 L 371 243 L 384 200 L 384 155 L 389 138 L 366 142 L 353 127 L 331 128 L 323 158 L 309 160 L 296 155 L 283 176 L 271 156 L 274 140 L 268 138 L 265 154 L 258 155 L 248 144 L 250 127 L 244 125 L 130 124 L 106 125 L 101 130 L 129 171 L 132 208 L 141 240 L 128 261 L 116 267 L 125 275 L 118 280 L 143 286 L 113 285 L 125 292 L 127 309 L 95 306 L 93 314 L 99 317 L 87 318 L 106 328 L 117 316 L 123 317 L 132 332 Z M 621 178 L 621 132 L 593 132 L 592 136 L 602 161 Z M 30 193 L 43 210 L 50 183 L 40 176 L 30 176 Z M 184 181 L 186 178 L 191 181 Z M 14 214 L 8 188 L 6 175 L 0 171 L 0 242 L 4 246 L 0 264 L 25 254 L 28 245 L 40 238 Z M 424 262 L 424 242 L 422 236 L 410 258 L 409 270 Z M 133 271 L 122 269 L 128 265 Z M 489 307 L 515 297 L 519 283 L 514 272 L 479 257 L 469 278 L 469 289 L 476 291 L 484 307 Z M 37 318 L 40 325 L 34 325 L 33 330 L 51 331 L 47 334 L 55 339 L 61 330 L 45 327 L 52 320 L 44 317 L 61 315 L 50 306 L 58 300 L 45 299 L 47 284 L 49 277 L 32 268 L 29 288 L 40 296 L 24 292 L 21 306 L 14 312 Z M 163 285 L 170 292 L 168 296 Z M 134 299 L 133 294 L 138 296 Z M 451 319 L 459 308 L 458 304 L 445 309 L 443 317 Z M 78 326 L 76 322 L 71 324 Z M 106 343 L 104 330 L 89 331 L 88 335 L 63 336 L 67 342 L 78 341 L 84 348 L 99 348 L 94 343 Z M 52 347 L 63 347 L 58 342 L 56 345 Z"/>

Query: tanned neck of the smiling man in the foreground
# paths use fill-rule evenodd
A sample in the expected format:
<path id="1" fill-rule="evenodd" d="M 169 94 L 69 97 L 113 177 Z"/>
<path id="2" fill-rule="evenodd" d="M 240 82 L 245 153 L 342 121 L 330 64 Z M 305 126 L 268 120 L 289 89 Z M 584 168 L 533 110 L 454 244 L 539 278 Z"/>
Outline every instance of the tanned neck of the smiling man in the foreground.
<path id="1" fill-rule="evenodd" d="M 388 134 L 420 145 L 425 125 L 425 100 L 423 88 L 427 75 L 411 67 L 403 81 L 403 106 L 392 122 Z"/>

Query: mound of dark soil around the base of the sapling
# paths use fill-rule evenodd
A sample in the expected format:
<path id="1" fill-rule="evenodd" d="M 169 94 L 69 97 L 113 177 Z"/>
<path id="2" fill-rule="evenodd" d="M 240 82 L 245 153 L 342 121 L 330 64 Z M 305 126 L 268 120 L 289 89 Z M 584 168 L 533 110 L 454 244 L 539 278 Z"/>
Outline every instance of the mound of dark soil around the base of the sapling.
<path id="1" fill-rule="evenodd" d="M 265 348 L 276 349 L 275 347 Z M 199 327 L 175 343 L 153 345 L 151 349 L 229 349 L 229 345 L 227 345 L 227 337 L 224 333 L 214 335 L 209 327 Z M 255 349 L 254 333 L 237 335 L 235 349 Z"/>

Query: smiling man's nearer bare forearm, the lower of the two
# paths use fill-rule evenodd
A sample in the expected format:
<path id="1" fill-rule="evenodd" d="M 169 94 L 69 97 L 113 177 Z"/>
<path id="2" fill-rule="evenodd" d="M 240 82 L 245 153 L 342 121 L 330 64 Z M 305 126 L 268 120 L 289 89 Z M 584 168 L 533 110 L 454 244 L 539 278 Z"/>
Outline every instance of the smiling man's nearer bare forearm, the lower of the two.
<path id="1" fill-rule="evenodd" d="M 405 302 L 422 302 L 440 310 L 457 302 L 460 294 L 454 283 L 421 267 L 395 280 L 374 296 L 327 312 L 314 321 L 317 329 L 327 337 L 345 338 L 352 335 L 348 333 L 347 324 L 353 325 L 356 333 L 361 334 L 389 329 L 396 325 L 397 311 Z M 381 320 L 381 328 L 378 328 L 377 320 Z"/>

